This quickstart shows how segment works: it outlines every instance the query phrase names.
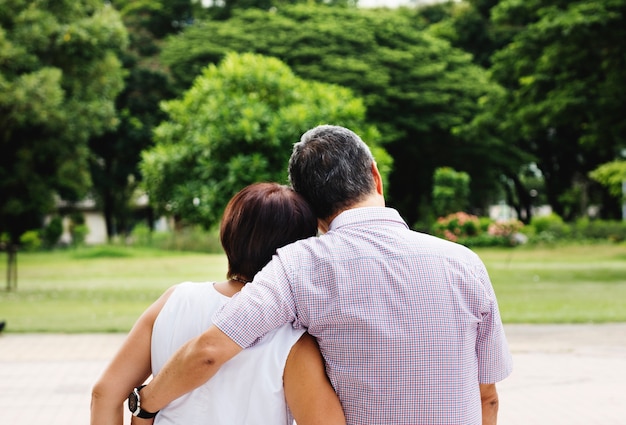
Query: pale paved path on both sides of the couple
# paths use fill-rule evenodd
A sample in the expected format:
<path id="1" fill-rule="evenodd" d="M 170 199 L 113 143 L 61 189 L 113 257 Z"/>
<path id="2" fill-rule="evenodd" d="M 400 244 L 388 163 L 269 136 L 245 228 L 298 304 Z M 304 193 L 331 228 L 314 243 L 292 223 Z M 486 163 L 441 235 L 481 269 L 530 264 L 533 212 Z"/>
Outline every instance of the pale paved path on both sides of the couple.
<path id="1" fill-rule="evenodd" d="M 500 425 L 626 425 L 626 324 L 508 325 Z M 0 334 L 0 425 L 87 425 L 124 335 Z"/>

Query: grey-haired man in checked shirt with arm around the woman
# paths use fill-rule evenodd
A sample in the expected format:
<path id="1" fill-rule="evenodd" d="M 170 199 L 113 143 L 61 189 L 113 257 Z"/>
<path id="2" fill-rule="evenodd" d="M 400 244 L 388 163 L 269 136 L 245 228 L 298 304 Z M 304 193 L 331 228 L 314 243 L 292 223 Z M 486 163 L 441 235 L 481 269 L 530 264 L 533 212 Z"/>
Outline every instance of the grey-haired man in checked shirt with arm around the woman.
<path id="1" fill-rule="evenodd" d="M 289 178 L 324 234 L 279 249 L 140 391 L 142 409 L 156 412 L 291 322 L 317 339 L 349 424 L 495 424 L 495 383 L 512 365 L 478 256 L 385 207 L 376 162 L 346 128 L 305 133 Z"/>

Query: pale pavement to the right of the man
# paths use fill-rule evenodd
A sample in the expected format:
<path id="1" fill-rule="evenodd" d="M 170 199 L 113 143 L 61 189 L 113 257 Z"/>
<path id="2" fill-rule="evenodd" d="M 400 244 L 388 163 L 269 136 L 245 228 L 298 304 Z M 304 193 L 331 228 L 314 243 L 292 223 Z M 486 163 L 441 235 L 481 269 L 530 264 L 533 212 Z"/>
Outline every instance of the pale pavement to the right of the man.
<path id="1" fill-rule="evenodd" d="M 625 425 L 626 324 L 505 326 L 501 425 Z"/>

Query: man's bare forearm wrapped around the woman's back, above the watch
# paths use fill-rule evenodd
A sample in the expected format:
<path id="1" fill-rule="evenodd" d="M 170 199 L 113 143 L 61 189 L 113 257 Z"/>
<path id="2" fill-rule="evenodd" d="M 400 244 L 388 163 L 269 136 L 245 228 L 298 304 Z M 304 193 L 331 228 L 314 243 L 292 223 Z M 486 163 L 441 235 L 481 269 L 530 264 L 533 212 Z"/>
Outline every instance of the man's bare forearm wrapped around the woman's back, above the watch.
<path id="1" fill-rule="evenodd" d="M 171 401 L 204 384 L 241 350 L 224 332 L 211 326 L 180 347 L 141 390 L 141 407 L 149 412 L 161 410 Z"/>

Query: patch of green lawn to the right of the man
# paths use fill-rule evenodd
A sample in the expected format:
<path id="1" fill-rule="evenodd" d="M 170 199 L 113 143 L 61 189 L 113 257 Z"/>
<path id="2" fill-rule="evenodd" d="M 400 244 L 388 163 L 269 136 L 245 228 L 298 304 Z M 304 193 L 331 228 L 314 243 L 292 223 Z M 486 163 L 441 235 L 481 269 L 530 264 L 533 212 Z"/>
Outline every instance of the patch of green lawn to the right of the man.
<path id="1" fill-rule="evenodd" d="M 505 323 L 626 322 L 626 245 L 477 250 Z"/>

